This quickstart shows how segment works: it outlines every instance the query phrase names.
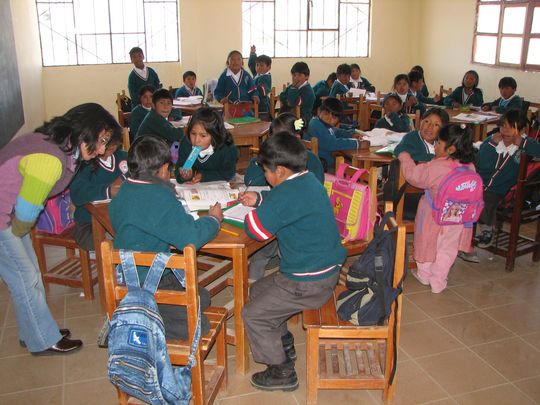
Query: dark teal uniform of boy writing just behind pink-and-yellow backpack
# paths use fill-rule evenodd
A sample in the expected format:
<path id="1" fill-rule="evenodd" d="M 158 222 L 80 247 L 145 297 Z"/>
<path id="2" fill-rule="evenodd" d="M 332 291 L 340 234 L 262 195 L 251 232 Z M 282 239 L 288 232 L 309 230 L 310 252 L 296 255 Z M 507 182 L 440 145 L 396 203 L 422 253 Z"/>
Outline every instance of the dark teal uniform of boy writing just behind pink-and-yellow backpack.
<path id="1" fill-rule="evenodd" d="M 309 122 L 306 139 L 317 138 L 319 141 L 319 158 L 325 170 L 334 167 L 332 152 L 346 149 L 358 149 L 358 139 L 352 138 L 354 130 L 332 127 L 314 117 Z"/>

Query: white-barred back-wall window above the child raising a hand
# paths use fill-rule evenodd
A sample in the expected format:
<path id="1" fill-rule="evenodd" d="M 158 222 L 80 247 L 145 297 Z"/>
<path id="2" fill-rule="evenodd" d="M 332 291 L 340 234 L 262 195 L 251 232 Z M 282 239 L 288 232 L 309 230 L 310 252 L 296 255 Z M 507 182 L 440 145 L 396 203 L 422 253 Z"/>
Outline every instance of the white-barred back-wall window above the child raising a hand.
<path id="1" fill-rule="evenodd" d="M 370 0 L 243 0 L 243 54 L 368 56 Z"/>

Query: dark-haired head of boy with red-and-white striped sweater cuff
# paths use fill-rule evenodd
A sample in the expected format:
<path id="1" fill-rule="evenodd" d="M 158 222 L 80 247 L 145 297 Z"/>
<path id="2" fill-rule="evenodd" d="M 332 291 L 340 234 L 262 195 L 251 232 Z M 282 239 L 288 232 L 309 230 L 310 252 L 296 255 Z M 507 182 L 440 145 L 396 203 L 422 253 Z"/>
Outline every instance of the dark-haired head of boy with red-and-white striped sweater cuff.
<path id="1" fill-rule="evenodd" d="M 257 162 L 266 181 L 275 187 L 292 174 L 306 170 L 307 151 L 302 141 L 289 132 L 278 132 L 263 142 Z"/>

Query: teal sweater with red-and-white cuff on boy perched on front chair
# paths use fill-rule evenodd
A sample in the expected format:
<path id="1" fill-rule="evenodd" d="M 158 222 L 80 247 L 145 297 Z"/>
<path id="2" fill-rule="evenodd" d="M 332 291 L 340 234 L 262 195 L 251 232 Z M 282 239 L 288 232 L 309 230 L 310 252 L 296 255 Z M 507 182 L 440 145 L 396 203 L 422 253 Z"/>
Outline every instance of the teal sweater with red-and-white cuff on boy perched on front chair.
<path id="1" fill-rule="evenodd" d="M 320 280 L 335 274 L 347 256 L 341 246 L 326 190 L 312 173 L 286 180 L 259 199 L 246 216 L 245 230 L 256 240 L 276 236 L 281 254 L 280 271 L 296 281 Z"/>

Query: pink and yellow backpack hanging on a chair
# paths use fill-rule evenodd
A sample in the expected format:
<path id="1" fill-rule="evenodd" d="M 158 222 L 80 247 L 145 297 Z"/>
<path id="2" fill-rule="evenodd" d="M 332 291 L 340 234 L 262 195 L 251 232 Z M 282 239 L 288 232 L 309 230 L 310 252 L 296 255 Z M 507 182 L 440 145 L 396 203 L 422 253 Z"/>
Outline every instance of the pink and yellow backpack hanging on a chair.
<path id="1" fill-rule="evenodd" d="M 339 234 L 345 241 L 365 239 L 373 228 L 370 222 L 370 189 L 357 180 L 365 169 L 359 169 L 350 178 L 345 177 L 347 164 L 342 164 L 336 175 L 325 173 L 324 188 L 330 198 Z"/>

